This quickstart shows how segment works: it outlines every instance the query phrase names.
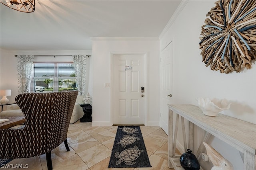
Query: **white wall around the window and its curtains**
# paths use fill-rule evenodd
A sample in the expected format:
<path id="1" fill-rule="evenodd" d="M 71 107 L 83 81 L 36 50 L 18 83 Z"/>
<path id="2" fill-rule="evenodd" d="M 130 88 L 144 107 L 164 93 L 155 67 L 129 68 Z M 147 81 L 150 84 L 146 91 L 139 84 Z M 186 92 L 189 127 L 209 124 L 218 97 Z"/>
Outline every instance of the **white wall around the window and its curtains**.
<path id="1" fill-rule="evenodd" d="M 9 102 L 15 102 L 18 95 L 18 72 L 17 57 L 14 55 L 92 55 L 92 51 L 8 51 L 1 49 L 0 51 L 0 89 L 11 89 L 12 96 L 7 97 Z M 35 57 L 34 61 L 73 61 L 72 57 Z M 92 57 L 87 58 L 86 76 L 88 92 L 92 94 Z"/>

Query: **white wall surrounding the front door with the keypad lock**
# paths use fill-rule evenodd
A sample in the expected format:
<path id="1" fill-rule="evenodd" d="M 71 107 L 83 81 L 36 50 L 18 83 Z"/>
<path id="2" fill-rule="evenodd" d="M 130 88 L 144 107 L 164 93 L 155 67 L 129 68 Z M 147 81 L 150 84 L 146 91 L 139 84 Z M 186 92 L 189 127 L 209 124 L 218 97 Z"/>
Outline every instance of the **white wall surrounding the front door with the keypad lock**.
<path id="1" fill-rule="evenodd" d="M 159 125 L 159 41 L 155 38 L 94 38 L 92 39 L 93 55 L 93 126 L 112 125 L 110 112 L 111 53 L 148 53 L 148 104 L 146 125 Z M 111 86 L 111 84 L 110 84 Z M 145 96 L 146 97 L 146 96 Z"/>

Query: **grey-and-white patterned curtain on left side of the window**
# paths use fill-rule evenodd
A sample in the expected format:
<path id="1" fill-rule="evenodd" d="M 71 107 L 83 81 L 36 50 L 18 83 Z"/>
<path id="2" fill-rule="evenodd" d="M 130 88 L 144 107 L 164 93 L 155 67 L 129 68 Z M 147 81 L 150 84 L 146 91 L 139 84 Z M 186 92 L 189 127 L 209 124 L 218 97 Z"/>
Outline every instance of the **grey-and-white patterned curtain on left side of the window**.
<path id="1" fill-rule="evenodd" d="M 18 94 L 30 92 L 33 61 L 33 55 L 18 55 Z"/>

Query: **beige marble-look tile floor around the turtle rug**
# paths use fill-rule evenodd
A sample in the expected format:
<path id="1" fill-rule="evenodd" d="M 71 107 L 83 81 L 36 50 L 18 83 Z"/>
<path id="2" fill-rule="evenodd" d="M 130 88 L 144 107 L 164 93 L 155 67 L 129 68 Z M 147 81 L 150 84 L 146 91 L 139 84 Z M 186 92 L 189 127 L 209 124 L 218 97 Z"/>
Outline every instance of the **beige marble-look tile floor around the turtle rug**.
<path id="1" fill-rule="evenodd" d="M 140 126 L 148 152 L 151 168 L 108 168 L 117 126 L 92 127 L 92 123 L 76 123 L 69 126 L 67 152 L 64 143 L 52 150 L 54 170 L 169 170 L 168 136 L 160 127 Z M 28 170 L 47 170 L 46 155 L 14 159 L 12 166 L 28 166 Z M 7 169 L 7 168 L 3 168 Z M 8 168 L 8 170 L 19 168 Z M 22 169 L 22 168 L 20 168 Z"/>

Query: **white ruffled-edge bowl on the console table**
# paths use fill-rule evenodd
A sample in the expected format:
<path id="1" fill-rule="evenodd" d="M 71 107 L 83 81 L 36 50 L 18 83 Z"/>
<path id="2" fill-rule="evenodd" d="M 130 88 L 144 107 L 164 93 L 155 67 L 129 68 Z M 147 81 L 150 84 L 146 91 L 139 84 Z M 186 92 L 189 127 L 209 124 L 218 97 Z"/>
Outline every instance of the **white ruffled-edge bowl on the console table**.
<path id="1" fill-rule="evenodd" d="M 230 108 L 230 104 L 226 99 L 210 100 L 209 98 L 198 98 L 198 106 L 203 113 L 208 116 L 216 116 L 220 111 Z"/>

